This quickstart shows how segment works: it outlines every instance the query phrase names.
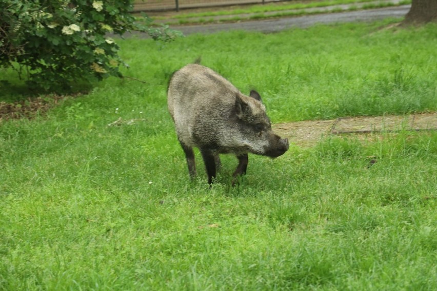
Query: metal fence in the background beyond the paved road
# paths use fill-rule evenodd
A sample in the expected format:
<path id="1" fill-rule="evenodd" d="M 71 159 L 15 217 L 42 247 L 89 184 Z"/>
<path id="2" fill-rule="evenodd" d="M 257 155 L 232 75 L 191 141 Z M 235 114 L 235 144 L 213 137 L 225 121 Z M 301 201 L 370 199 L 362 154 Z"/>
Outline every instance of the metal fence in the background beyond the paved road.
<path id="1" fill-rule="evenodd" d="M 264 4 L 286 0 L 135 0 L 134 11 L 176 10 L 240 4 Z"/>

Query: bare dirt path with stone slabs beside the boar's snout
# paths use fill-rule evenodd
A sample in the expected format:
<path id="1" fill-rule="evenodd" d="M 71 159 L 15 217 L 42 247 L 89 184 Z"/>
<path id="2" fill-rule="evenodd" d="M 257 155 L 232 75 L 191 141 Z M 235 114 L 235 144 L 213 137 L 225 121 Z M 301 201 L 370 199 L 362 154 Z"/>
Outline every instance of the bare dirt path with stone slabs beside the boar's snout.
<path id="1" fill-rule="evenodd" d="M 312 147 L 321 138 L 330 135 L 355 134 L 359 138 L 382 132 L 437 130 L 437 112 L 405 116 L 342 117 L 331 120 L 308 120 L 273 124 L 281 137 L 300 147 Z"/>

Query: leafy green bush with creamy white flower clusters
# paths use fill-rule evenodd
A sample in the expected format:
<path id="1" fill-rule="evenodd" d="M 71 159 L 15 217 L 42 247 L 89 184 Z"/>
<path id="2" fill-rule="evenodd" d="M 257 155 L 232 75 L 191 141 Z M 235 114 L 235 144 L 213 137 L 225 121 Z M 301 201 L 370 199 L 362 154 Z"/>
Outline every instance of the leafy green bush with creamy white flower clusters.
<path id="1" fill-rule="evenodd" d="M 125 64 L 110 33 L 140 30 L 164 41 L 178 36 L 168 27 L 150 28 L 150 19 L 135 24 L 129 0 L 0 0 L 0 7 L 0 66 L 52 91 L 73 81 L 121 77 Z"/>

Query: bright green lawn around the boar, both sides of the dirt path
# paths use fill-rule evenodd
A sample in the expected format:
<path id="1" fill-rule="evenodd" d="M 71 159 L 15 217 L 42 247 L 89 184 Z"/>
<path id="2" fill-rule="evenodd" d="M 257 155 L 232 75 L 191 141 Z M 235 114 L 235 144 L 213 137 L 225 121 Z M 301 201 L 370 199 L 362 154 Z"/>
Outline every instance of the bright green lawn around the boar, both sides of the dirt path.
<path id="1" fill-rule="evenodd" d="M 118 40 L 147 83 L 0 123 L 0 289 L 437 289 L 437 133 L 250 155 L 235 188 L 224 156 L 209 189 L 166 108 L 171 73 L 202 56 L 273 122 L 435 111 L 437 26 L 393 22 Z M 120 117 L 138 120 L 107 126 Z"/>

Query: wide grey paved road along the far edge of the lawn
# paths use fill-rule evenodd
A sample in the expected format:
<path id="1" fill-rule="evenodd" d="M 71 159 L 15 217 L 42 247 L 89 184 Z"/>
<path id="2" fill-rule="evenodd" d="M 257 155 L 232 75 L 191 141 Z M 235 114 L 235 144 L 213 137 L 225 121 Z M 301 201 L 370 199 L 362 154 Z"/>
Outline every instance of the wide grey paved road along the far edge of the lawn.
<path id="1" fill-rule="evenodd" d="M 306 28 L 315 24 L 371 22 L 388 17 L 404 17 L 411 5 L 398 7 L 326 13 L 299 17 L 275 18 L 267 20 L 251 20 L 240 23 L 223 23 L 190 26 L 171 26 L 182 31 L 185 35 L 193 33 L 214 33 L 218 31 L 246 30 L 264 33 L 277 32 L 289 28 Z"/>

